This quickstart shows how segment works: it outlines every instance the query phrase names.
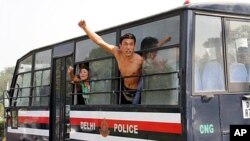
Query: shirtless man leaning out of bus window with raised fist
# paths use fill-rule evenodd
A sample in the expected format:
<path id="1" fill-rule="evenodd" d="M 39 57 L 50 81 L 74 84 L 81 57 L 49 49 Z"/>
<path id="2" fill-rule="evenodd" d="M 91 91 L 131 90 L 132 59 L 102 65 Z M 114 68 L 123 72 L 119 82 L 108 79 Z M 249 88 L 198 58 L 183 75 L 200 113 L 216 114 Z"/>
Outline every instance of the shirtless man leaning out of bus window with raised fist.
<path id="1" fill-rule="evenodd" d="M 143 58 L 134 52 L 136 43 L 135 36 L 131 33 L 123 35 L 120 38 L 119 47 L 117 47 L 115 45 L 108 44 L 99 35 L 90 30 L 84 20 L 81 20 L 78 25 L 85 31 L 94 43 L 114 55 L 118 63 L 120 73 L 123 77 L 123 87 L 127 91 L 126 93 L 129 93 L 133 98 L 137 92 L 143 64 Z M 124 94 L 122 102 L 124 104 L 131 103 L 131 99 L 128 99 L 126 96 L 128 95 Z"/>

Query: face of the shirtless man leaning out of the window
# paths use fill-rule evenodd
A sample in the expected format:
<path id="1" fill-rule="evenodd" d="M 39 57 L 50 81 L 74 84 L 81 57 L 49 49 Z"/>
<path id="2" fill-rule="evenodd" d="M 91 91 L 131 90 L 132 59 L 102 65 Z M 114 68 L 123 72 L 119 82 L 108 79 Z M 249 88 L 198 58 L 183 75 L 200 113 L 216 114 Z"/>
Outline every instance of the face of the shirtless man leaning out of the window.
<path id="1" fill-rule="evenodd" d="M 120 44 L 120 49 L 125 56 L 131 56 L 134 53 L 135 42 L 133 39 L 124 39 Z"/>

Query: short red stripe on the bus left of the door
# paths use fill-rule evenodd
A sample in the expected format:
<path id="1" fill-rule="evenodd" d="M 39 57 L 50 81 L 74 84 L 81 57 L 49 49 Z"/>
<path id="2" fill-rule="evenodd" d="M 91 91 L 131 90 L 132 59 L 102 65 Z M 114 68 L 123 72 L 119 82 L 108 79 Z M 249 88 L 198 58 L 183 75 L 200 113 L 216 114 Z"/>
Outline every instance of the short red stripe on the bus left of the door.
<path id="1" fill-rule="evenodd" d="M 18 116 L 21 123 L 49 123 L 49 117 Z"/>

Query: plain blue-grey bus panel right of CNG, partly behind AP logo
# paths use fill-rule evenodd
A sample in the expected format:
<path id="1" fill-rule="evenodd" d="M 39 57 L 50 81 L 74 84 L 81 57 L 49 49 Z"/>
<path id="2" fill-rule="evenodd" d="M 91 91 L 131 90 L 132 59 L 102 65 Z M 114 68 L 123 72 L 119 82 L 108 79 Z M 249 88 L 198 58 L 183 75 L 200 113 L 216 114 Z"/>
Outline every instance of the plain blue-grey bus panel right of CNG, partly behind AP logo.
<path id="1" fill-rule="evenodd" d="M 229 141 L 230 125 L 250 125 L 250 119 L 243 118 L 242 95 L 221 95 L 220 117 L 223 141 Z"/>

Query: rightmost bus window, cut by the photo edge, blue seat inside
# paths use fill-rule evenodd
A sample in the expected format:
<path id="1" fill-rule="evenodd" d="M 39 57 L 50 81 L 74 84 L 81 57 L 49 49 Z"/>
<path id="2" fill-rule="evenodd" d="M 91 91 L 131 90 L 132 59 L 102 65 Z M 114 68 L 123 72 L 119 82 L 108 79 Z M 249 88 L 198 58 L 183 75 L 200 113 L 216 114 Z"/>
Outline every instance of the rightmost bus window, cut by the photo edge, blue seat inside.
<path id="1" fill-rule="evenodd" d="M 226 47 L 230 91 L 249 91 L 249 21 L 226 20 Z"/>

